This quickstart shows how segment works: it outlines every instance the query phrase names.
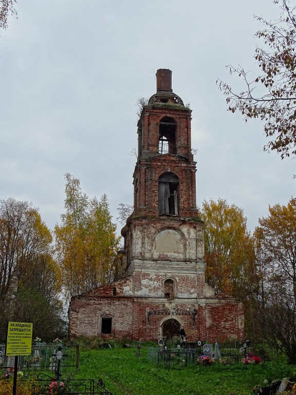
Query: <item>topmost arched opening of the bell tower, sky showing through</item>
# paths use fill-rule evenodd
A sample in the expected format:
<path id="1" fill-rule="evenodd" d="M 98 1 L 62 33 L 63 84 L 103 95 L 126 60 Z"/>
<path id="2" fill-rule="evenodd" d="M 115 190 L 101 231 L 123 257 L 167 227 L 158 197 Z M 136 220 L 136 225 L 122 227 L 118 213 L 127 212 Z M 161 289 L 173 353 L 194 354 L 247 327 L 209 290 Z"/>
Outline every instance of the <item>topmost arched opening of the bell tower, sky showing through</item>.
<path id="1" fill-rule="evenodd" d="M 159 122 L 158 152 L 176 154 L 176 122 L 171 117 L 164 117 Z"/>

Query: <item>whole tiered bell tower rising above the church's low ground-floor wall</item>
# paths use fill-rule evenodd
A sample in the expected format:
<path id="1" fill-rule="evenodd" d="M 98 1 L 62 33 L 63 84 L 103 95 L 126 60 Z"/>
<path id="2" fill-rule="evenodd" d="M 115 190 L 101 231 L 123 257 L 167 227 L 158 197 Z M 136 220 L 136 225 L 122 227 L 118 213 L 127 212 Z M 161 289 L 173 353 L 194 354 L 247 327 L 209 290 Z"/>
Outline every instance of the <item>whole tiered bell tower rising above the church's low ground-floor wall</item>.
<path id="1" fill-rule="evenodd" d="M 204 296 L 205 262 L 191 110 L 173 92 L 171 70 L 157 70 L 156 85 L 138 121 L 134 211 L 121 231 L 126 275 L 134 296 L 192 302 Z"/>

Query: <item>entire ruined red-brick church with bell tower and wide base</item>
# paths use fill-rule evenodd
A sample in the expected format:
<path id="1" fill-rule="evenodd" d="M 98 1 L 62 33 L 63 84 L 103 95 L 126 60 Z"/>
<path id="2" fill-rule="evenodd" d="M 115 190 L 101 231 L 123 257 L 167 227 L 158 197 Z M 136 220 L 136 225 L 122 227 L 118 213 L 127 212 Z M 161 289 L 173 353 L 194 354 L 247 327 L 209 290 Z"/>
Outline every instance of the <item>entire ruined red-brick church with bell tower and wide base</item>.
<path id="1" fill-rule="evenodd" d="M 191 110 L 173 93 L 171 70 L 157 70 L 156 82 L 138 121 L 134 211 L 121 230 L 123 275 L 72 297 L 70 338 L 168 339 L 184 326 L 190 342 L 243 339 L 242 303 L 205 282 Z"/>

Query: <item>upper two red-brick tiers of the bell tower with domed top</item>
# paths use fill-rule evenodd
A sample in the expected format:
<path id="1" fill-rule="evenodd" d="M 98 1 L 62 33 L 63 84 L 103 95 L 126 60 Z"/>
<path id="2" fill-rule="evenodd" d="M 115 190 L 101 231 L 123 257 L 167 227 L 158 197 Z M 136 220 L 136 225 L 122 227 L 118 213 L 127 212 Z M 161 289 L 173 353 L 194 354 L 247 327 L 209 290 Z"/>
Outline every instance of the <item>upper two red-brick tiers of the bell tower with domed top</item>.
<path id="1" fill-rule="evenodd" d="M 156 84 L 138 121 L 134 215 L 197 217 L 191 110 L 172 91 L 171 70 L 157 70 Z"/>

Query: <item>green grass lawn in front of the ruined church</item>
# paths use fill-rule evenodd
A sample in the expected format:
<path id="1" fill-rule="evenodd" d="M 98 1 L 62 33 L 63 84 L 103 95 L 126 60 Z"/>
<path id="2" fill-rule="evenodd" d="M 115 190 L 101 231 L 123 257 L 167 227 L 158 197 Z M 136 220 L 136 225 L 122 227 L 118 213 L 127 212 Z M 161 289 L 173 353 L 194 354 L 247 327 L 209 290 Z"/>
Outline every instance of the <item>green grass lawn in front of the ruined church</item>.
<path id="1" fill-rule="evenodd" d="M 286 362 L 260 365 L 214 364 L 180 370 L 158 367 L 135 348 L 82 351 L 80 369 L 74 378 L 99 379 L 114 395 L 249 395 L 264 380 L 281 380 L 295 375 L 296 366 Z"/>

